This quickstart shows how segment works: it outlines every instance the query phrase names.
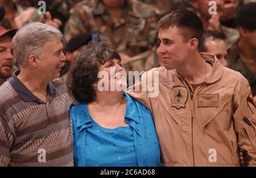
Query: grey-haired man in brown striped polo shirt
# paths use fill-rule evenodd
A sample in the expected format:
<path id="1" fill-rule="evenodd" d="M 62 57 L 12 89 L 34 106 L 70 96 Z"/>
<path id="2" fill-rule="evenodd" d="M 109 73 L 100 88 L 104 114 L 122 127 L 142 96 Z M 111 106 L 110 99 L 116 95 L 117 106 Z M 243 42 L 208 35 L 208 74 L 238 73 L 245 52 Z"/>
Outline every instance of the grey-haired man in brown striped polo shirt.
<path id="1" fill-rule="evenodd" d="M 0 87 L 0 165 L 72 166 L 71 99 L 61 32 L 28 23 L 13 38 L 20 69 Z"/>

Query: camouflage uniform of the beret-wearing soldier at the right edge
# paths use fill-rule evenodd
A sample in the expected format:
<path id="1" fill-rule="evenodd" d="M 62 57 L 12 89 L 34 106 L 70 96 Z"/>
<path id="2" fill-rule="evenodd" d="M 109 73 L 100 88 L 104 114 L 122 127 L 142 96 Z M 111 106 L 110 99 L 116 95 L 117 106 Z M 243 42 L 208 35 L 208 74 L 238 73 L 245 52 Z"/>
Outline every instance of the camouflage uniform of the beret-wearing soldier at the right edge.
<path id="1" fill-rule="evenodd" d="M 253 96 L 256 96 L 256 73 L 246 67 L 239 55 L 238 41 L 229 49 L 228 67 L 240 72 L 249 81 Z M 256 64 L 255 64 L 256 65 Z"/>

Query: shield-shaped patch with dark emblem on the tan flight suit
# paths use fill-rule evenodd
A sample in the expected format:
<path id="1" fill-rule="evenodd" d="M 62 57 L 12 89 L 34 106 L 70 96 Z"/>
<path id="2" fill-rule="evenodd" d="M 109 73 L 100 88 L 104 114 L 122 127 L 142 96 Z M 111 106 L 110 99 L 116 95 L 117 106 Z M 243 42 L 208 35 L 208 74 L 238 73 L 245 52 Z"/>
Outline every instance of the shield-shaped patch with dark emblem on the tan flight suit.
<path id="1" fill-rule="evenodd" d="M 188 100 L 188 90 L 184 86 L 173 86 L 171 90 L 172 107 L 180 109 L 185 108 Z"/>

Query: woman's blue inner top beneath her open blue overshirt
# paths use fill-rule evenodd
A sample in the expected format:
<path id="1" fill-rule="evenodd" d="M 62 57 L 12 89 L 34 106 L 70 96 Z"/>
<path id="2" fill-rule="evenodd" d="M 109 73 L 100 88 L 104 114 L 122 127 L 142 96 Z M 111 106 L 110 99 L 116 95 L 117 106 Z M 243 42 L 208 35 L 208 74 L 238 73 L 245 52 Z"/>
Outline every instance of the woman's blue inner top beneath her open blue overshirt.
<path id="1" fill-rule="evenodd" d="M 131 127 L 106 129 L 93 121 L 86 129 L 87 166 L 138 166 Z"/>

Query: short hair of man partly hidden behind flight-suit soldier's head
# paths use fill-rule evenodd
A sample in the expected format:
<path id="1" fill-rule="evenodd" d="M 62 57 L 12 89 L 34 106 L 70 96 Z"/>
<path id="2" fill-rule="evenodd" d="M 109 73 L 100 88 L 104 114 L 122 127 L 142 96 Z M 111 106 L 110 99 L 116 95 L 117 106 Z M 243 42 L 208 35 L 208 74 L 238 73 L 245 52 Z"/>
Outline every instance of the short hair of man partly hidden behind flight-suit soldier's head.
<path id="1" fill-rule="evenodd" d="M 217 39 L 220 39 L 220 40 L 224 41 L 226 39 L 226 36 L 222 32 L 212 31 L 212 30 L 205 30 L 204 34 L 203 34 L 203 37 L 202 37 L 202 43 L 201 43 L 201 46 L 200 46 L 200 52 L 207 52 L 208 51 L 207 47 L 205 46 L 205 41 L 208 38 L 210 40 L 213 40 L 213 41 L 217 40 Z"/>

